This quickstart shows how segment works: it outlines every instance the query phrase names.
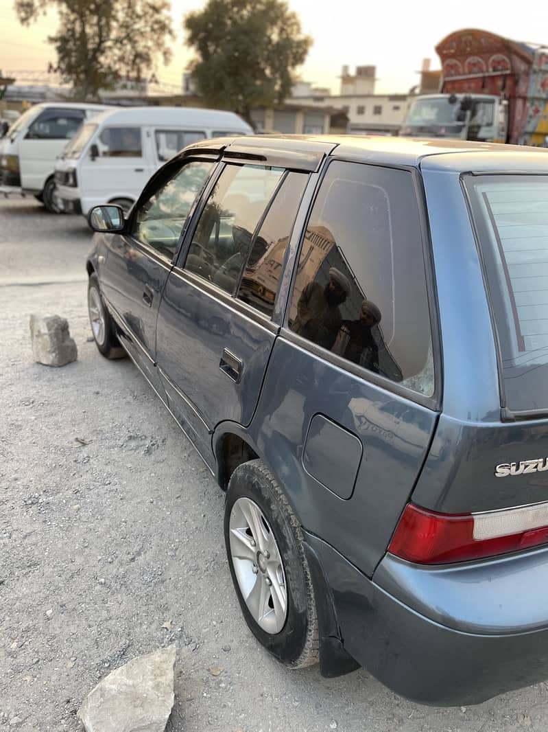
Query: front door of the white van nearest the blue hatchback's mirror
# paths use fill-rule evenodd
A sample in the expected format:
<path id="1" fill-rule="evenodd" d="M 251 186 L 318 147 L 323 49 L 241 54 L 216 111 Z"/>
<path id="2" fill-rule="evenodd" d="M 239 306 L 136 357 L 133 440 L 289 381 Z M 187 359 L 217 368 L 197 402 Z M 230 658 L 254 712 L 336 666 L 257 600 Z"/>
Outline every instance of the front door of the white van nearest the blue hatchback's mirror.
<path id="1" fill-rule="evenodd" d="M 102 127 L 78 168 L 84 214 L 116 198 L 136 201 L 153 171 L 142 125 Z"/>

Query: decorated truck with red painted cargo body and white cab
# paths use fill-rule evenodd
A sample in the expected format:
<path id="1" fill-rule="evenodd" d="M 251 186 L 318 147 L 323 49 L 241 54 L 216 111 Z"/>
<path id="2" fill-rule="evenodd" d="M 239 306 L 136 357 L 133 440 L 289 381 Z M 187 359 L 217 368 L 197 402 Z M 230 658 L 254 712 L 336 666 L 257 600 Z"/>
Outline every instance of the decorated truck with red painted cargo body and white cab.
<path id="1" fill-rule="evenodd" d="M 435 50 L 440 93 L 411 102 L 401 135 L 547 145 L 548 48 L 462 30 Z"/>

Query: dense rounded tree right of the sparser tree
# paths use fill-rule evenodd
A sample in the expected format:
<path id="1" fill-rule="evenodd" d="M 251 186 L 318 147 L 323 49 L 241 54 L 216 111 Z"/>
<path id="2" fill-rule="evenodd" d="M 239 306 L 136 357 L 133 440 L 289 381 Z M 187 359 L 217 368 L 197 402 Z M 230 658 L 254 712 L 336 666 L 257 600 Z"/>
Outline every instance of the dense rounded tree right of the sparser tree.
<path id="1" fill-rule="evenodd" d="M 251 122 L 251 109 L 283 102 L 312 39 L 281 0 L 208 0 L 183 21 L 198 58 L 191 75 L 213 106 Z"/>

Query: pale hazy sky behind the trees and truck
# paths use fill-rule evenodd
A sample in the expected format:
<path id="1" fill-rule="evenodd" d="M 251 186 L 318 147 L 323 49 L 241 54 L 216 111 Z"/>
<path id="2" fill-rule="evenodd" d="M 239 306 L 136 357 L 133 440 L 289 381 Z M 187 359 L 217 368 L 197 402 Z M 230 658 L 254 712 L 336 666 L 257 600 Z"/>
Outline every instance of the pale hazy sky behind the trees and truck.
<path id="1" fill-rule="evenodd" d="M 177 33 L 169 66 L 159 67 L 161 82 L 180 87 L 181 75 L 192 57 L 184 47 L 182 18 L 205 4 L 201 0 L 172 0 L 173 26 Z M 327 86 L 339 93 L 340 71 L 359 65 L 376 66 L 378 94 L 406 93 L 419 81 L 422 59 L 438 68 L 435 45 L 447 34 L 463 28 L 479 28 L 513 40 L 548 46 L 548 4 L 522 6 L 514 0 L 478 2 L 460 0 L 444 7 L 440 0 L 289 0 L 302 31 L 313 38 L 305 64 L 297 70 L 304 81 Z M 450 10 L 449 10 L 450 9 Z M 12 0 L 0 0 L 0 70 L 47 70 L 55 62 L 47 35 L 56 31 L 55 11 L 26 28 L 20 25 Z M 175 89 L 174 89 L 175 91 Z"/>

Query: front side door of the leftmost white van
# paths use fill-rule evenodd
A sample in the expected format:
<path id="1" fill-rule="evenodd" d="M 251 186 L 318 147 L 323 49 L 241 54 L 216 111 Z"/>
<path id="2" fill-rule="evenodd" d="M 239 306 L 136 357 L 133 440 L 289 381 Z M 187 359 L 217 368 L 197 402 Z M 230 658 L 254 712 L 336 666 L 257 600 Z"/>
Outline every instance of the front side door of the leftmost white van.
<path id="1" fill-rule="evenodd" d="M 53 175 L 56 157 L 77 132 L 85 118 L 83 109 L 45 109 L 18 141 L 21 187 L 41 192 Z"/>

